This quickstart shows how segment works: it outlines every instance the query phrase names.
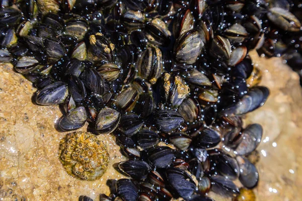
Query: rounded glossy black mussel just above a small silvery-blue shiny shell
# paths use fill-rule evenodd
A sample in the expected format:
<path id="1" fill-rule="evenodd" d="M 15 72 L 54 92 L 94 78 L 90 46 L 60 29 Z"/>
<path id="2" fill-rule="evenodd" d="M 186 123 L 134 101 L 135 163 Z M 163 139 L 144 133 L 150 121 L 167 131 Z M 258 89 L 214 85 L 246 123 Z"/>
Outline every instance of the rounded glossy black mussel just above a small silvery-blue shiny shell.
<path id="1" fill-rule="evenodd" d="M 221 141 L 221 135 L 216 130 L 205 128 L 200 135 L 194 140 L 194 143 L 199 148 L 210 148 L 216 146 Z"/>

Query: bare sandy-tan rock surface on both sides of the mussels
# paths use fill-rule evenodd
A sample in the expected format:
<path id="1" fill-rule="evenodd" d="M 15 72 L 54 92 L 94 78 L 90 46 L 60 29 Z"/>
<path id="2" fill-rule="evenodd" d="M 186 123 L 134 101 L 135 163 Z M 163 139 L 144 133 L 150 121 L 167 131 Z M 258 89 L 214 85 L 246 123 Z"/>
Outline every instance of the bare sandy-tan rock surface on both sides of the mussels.
<path id="1" fill-rule="evenodd" d="M 257 200 L 302 200 L 302 89 L 298 75 L 280 58 L 259 58 L 261 85 L 270 89 L 266 104 L 246 116 L 245 125 L 259 123 L 264 134 L 258 147 L 260 173 Z M 38 106 L 36 91 L 11 65 L 0 64 L 0 200 L 78 200 L 82 194 L 98 200 L 109 194 L 108 179 L 122 178 L 113 164 L 124 161 L 112 135 L 99 135 L 110 155 L 108 169 L 96 181 L 66 173 L 59 160 L 59 142 L 66 133 L 56 131 L 61 117 L 57 106 Z M 80 129 L 86 131 L 87 125 Z M 216 201 L 230 200 L 210 193 Z"/>

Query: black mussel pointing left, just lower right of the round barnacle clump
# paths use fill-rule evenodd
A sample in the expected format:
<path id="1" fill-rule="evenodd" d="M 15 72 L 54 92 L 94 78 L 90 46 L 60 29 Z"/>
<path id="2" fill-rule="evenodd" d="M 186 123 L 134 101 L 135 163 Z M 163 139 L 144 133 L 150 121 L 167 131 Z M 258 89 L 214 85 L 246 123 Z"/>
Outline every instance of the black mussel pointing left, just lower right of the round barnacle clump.
<path id="1" fill-rule="evenodd" d="M 144 180 L 147 178 L 151 167 L 148 163 L 141 160 L 128 160 L 118 164 L 120 170 L 136 180 Z"/>

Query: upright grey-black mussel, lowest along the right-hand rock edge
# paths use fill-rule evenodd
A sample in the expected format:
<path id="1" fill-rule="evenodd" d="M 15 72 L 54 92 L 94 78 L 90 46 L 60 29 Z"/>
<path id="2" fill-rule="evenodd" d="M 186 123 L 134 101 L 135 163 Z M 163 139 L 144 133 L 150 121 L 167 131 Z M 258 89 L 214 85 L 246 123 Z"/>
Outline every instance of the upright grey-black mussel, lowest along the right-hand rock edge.
<path id="1" fill-rule="evenodd" d="M 246 188 L 254 188 L 258 184 L 259 179 L 256 166 L 245 157 L 237 156 L 236 160 L 240 169 L 240 182 Z"/>

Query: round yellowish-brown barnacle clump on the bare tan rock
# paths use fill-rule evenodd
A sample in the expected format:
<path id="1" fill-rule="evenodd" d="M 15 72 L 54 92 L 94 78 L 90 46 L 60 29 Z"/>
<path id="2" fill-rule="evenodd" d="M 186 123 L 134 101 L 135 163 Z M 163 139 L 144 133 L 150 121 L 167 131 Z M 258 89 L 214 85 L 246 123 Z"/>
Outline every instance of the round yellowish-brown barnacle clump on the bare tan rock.
<path id="1" fill-rule="evenodd" d="M 67 173 L 83 180 L 100 178 L 109 159 L 103 142 L 89 132 L 69 133 L 60 143 L 60 160 Z"/>

